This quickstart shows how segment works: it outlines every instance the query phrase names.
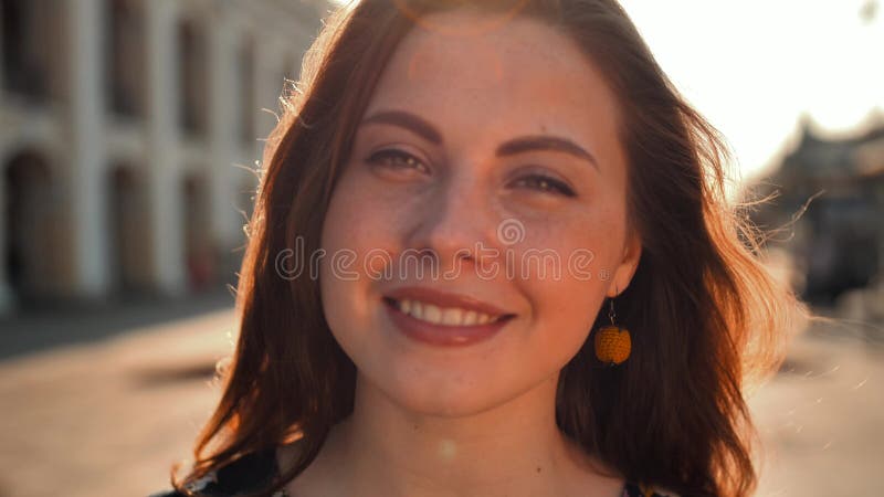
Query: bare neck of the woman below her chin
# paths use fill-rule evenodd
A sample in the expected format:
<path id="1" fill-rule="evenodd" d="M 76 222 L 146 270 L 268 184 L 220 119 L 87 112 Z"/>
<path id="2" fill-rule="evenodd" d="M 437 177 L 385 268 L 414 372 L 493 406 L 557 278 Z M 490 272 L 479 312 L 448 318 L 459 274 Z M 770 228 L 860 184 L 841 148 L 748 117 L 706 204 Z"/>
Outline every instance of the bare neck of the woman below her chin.
<path id="1" fill-rule="evenodd" d="M 326 475 L 337 475 L 335 495 L 591 495 L 588 457 L 556 425 L 557 380 L 446 417 L 403 409 L 359 377 L 352 415 L 335 426 L 317 459 L 334 467 Z"/>

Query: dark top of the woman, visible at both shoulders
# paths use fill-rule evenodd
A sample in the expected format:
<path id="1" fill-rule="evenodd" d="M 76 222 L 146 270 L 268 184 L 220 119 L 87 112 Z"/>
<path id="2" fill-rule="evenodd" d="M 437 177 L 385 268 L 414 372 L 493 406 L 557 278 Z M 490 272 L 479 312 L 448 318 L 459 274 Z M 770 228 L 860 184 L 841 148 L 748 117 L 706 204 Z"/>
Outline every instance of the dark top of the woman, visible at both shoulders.
<path id="1" fill-rule="evenodd" d="M 206 497 L 234 497 L 266 488 L 278 475 L 276 450 L 267 448 L 246 454 L 193 482 L 188 488 Z M 160 491 L 148 497 L 185 497 L 185 495 L 179 491 Z M 286 494 L 285 490 L 278 490 L 273 494 L 273 497 L 293 496 Z M 623 486 L 622 497 L 677 497 L 677 495 L 659 493 L 650 486 L 628 482 Z"/>

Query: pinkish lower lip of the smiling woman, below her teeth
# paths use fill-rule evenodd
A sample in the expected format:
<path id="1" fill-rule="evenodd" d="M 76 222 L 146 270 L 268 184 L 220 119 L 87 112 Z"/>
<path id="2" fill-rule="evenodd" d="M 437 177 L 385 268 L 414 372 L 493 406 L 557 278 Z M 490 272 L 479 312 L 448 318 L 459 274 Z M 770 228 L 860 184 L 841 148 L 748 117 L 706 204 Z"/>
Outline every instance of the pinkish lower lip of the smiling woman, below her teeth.
<path id="1" fill-rule="evenodd" d="M 477 343 L 493 337 L 509 319 L 485 325 L 444 326 L 433 325 L 409 316 L 385 300 L 383 306 L 393 324 L 409 338 L 441 347 L 460 347 Z"/>

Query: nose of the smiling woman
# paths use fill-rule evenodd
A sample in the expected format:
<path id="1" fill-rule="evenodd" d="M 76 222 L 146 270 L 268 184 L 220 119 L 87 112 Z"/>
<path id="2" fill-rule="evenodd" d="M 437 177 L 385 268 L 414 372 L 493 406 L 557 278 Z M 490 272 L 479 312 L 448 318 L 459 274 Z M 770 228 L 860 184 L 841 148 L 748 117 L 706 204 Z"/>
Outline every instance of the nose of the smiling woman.
<path id="1" fill-rule="evenodd" d="M 487 272 L 501 252 L 493 203 L 475 177 L 449 178 L 415 213 L 406 246 L 430 255 L 440 274 L 467 265 Z"/>

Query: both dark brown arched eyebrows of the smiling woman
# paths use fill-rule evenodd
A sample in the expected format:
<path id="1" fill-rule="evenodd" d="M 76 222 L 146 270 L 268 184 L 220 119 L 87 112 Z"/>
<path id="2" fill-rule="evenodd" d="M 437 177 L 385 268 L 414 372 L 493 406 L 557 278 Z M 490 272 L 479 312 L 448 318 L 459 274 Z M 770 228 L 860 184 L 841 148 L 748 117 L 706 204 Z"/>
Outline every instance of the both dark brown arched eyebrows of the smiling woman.
<path id="1" fill-rule="evenodd" d="M 433 145 L 442 145 L 442 134 L 439 133 L 433 125 L 411 113 L 402 110 L 383 110 L 372 114 L 370 117 L 364 119 L 361 124 L 387 124 L 399 126 L 414 133 Z M 524 136 L 507 140 L 497 147 L 495 154 L 497 157 L 506 157 L 541 150 L 565 152 L 580 159 L 585 159 L 589 161 L 592 167 L 599 169 L 599 162 L 596 160 L 596 156 L 593 156 L 589 150 L 580 147 L 567 138 L 549 135 Z"/>

